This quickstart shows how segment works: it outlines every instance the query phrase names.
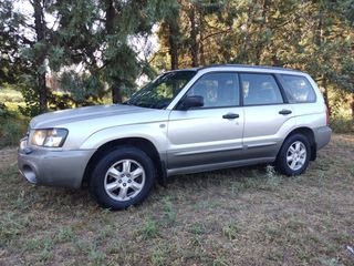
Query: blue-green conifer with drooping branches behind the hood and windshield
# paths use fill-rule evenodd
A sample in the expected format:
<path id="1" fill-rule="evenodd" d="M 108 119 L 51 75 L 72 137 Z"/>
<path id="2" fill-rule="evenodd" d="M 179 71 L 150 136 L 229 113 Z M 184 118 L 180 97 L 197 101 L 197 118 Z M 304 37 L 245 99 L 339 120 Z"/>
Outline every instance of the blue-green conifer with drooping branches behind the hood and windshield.
<path id="1" fill-rule="evenodd" d="M 58 29 L 63 58 L 59 66 L 67 63 L 82 64 L 85 76 L 97 86 L 98 94 L 108 85 L 112 101 L 121 102 L 122 96 L 135 86 L 142 71 L 148 71 L 148 63 L 138 58 L 132 41 L 150 33 L 152 27 L 165 10 L 164 1 L 60 1 L 54 10 L 60 14 Z M 144 49 L 144 48 L 140 48 Z M 59 68 L 58 68 L 59 69 Z M 62 84 L 72 90 L 72 83 L 64 84 L 73 71 L 64 71 Z M 88 82 L 90 83 L 90 82 Z M 93 89 L 93 88 L 92 88 Z M 82 91 L 87 91 L 85 88 Z M 88 91 L 87 91 L 88 92 Z M 94 93 L 94 90 L 91 90 Z"/>

